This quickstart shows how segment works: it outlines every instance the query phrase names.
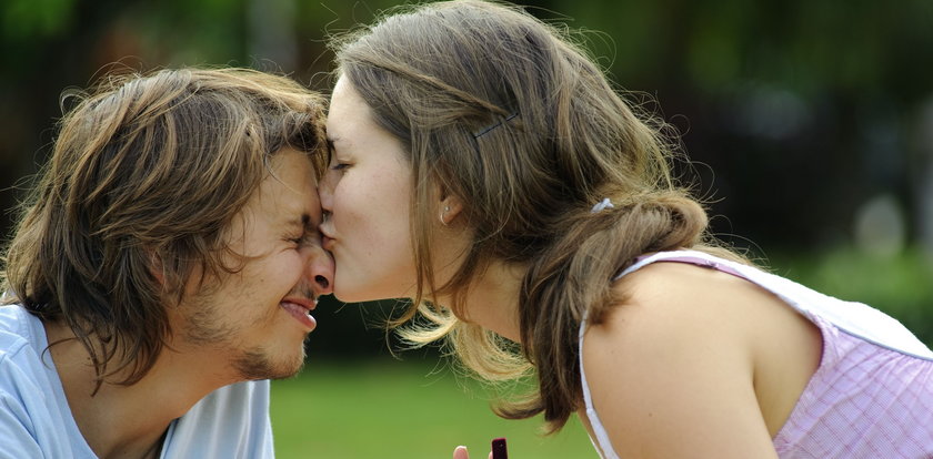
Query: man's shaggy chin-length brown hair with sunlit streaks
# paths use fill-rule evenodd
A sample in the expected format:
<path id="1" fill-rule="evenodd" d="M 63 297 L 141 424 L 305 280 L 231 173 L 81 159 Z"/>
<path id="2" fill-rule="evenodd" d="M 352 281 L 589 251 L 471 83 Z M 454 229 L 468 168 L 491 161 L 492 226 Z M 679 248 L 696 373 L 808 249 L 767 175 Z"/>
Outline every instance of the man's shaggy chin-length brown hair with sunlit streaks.
<path id="1" fill-rule="evenodd" d="M 58 125 L 3 254 L 2 303 L 67 324 L 98 387 L 138 381 L 185 284 L 237 269 L 224 232 L 270 157 L 289 146 L 322 173 L 322 123 L 320 95 L 258 71 L 102 79 Z"/>

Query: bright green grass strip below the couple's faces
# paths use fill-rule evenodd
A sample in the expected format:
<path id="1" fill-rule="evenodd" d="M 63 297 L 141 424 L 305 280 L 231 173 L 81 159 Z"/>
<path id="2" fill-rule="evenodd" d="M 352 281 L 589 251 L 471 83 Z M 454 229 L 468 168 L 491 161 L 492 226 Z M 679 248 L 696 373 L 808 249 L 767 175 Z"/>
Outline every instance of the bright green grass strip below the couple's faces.
<path id="1" fill-rule="evenodd" d="M 514 458 L 598 457 L 573 416 L 554 436 L 540 435 L 540 418 L 504 420 L 486 391 L 432 374 L 431 364 L 390 357 L 345 364 L 314 361 L 301 376 L 272 384 L 272 429 L 279 458 L 450 458 L 465 445 L 486 459 L 492 438 L 506 437 Z"/>

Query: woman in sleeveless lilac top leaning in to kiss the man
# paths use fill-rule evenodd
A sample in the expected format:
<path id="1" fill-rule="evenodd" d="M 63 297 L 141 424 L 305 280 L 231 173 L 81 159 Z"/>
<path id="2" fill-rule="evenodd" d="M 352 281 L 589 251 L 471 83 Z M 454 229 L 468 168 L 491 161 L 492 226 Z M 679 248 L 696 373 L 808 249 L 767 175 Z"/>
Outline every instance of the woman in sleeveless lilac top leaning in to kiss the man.
<path id="1" fill-rule="evenodd" d="M 933 353 L 716 247 L 664 124 L 556 29 L 452 1 L 334 48 L 334 294 L 412 298 L 403 335 L 482 378 L 532 370 L 500 416 L 578 412 L 605 458 L 933 455 Z"/>

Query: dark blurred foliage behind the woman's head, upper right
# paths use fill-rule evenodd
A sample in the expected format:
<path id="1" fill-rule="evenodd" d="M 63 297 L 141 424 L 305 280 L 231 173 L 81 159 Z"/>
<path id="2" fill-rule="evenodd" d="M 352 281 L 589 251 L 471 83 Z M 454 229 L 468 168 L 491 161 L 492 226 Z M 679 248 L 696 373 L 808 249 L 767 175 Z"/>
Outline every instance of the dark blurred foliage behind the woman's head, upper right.
<path id="1" fill-rule="evenodd" d="M 565 7 L 565 8 L 564 8 Z M 715 222 L 765 245 L 849 234 L 859 205 L 919 184 L 906 118 L 933 92 L 933 3 L 586 1 L 549 4 L 588 29 L 623 86 L 684 131 Z M 682 115 L 682 116 L 675 116 Z M 709 166 L 709 169 L 705 167 Z M 914 226 L 919 222 L 911 222 Z M 741 239 L 736 243 L 744 245 Z"/>

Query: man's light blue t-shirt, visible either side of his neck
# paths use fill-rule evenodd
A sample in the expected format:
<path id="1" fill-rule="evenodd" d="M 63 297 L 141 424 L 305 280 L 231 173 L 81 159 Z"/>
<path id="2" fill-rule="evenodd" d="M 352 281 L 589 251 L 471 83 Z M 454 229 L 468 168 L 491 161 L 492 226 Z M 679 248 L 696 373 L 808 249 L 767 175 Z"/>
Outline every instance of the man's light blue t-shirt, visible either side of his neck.
<path id="1" fill-rule="evenodd" d="M 47 346 L 37 317 L 20 306 L 0 307 L 0 459 L 96 459 L 71 416 Z M 274 457 L 269 381 L 209 394 L 172 421 L 161 457 Z"/>

